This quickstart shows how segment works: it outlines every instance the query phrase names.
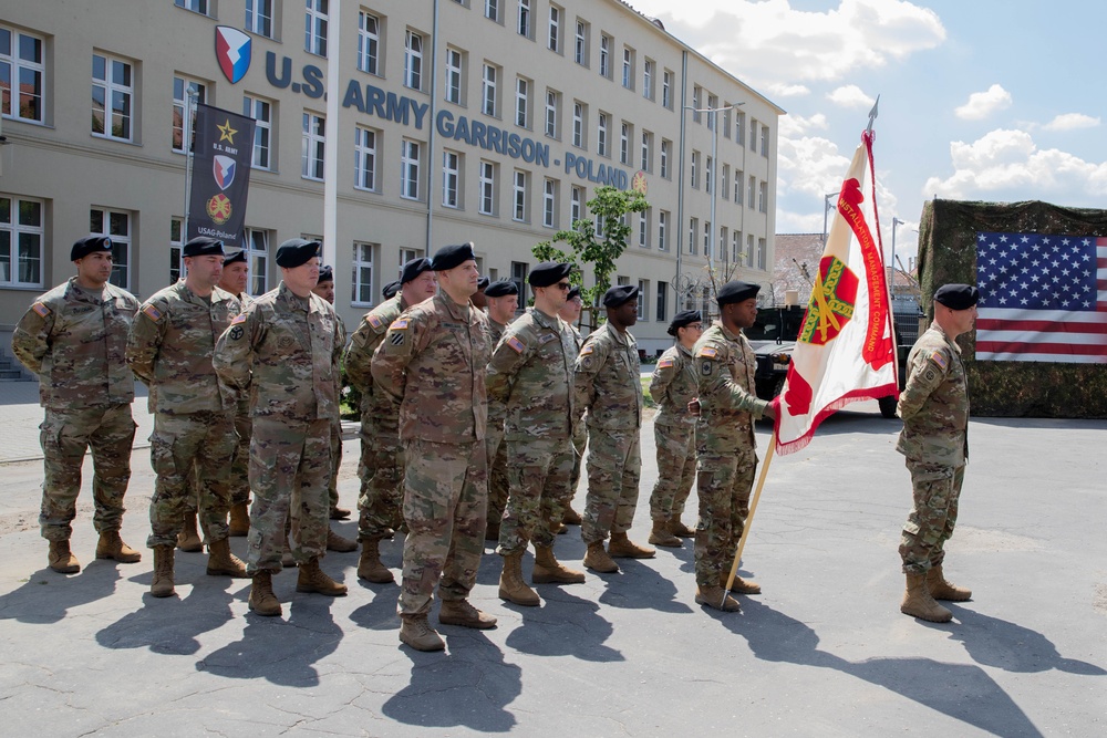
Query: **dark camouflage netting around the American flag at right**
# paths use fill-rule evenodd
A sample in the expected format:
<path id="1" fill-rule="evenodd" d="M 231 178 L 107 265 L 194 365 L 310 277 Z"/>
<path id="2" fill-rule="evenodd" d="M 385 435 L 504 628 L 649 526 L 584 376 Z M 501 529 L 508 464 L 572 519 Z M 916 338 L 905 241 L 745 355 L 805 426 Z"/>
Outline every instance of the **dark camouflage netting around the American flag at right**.
<path id="1" fill-rule="evenodd" d="M 933 315 L 938 287 L 975 283 L 977 231 L 1105 236 L 1107 210 L 1046 202 L 927 202 L 919 229 L 919 281 L 928 315 Z M 1107 365 L 976 361 L 975 332 L 959 343 L 973 415 L 1107 417 Z"/>

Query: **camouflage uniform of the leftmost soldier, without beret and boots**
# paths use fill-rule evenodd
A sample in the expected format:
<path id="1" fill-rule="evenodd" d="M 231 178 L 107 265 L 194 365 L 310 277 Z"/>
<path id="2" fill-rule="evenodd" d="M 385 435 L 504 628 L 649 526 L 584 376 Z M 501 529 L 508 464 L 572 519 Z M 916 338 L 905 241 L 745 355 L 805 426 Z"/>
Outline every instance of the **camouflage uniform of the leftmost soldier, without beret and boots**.
<path id="1" fill-rule="evenodd" d="M 105 284 L 96 293 L 73 278 L 35 300 L 15 326 L 12 352 L 39 376 L 45 408 L 39 426 L 44 467 L 39 524 L 46 540 L 70 538 L 90 446 L 93 524 L 99 532 L 123 524 L 135 437 L 134 377 L 124 351 L 137 309 L 126 290 Z"/>

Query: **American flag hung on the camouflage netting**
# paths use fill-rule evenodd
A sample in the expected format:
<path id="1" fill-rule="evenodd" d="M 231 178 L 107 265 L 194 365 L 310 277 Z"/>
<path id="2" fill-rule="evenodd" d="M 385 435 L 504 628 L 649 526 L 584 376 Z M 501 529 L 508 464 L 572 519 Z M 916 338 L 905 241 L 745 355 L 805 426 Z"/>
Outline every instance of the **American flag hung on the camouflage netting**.
<path id="1" fill-rule="evenodd" d="M 1107 238 L 976 233 L 976 358 L 1107 363 Z"/>

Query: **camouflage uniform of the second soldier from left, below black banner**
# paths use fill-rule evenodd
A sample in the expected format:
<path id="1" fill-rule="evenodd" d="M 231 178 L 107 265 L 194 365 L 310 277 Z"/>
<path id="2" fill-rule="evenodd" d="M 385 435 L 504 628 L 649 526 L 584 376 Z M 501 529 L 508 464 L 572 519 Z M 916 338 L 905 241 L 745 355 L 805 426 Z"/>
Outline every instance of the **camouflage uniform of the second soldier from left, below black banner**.
<path id="1" fill-rule="evenodd" d="M 149 548 L 176 544 L 195 492 L 208 540 L 227 538 L 235 397 L 219 386 L 211 353 L 241 310 L 229 292 L 214 288 L 204 299 L 182 279 L 144 302 L 131 326 L 127 363 L 149 387 L 154 414 L 151 466 L 157 479 L 149 503 Z"/>

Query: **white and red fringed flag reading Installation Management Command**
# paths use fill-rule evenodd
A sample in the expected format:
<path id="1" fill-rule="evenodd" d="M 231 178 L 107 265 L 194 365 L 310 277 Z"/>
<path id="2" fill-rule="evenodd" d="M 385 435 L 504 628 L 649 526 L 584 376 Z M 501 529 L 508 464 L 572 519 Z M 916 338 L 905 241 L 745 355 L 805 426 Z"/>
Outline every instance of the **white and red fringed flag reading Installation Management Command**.
<path id="1" fill-rule="evenodd" d="M 838 195 L 837 212 L 816 272 L 807 314 L 776 419 L 776 450 L 810 443 L 815 429 L 842 406 L 894 394 L 896 349 L 886 280 L 872 134 L 865 132 Z"/>

